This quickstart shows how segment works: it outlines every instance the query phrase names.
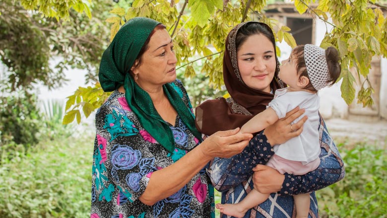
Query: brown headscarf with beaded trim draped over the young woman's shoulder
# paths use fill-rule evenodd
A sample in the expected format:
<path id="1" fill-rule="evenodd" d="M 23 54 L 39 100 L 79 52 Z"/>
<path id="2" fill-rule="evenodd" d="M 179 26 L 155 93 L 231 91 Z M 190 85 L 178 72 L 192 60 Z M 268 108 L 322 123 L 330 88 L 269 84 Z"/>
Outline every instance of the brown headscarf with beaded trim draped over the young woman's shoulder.
<path id="1" fill-rule="evenodd" d="M 260 24 L 271 34 L 269 39 L 273 43 L 277 63 L 274 79 L 270 83 L 271 89 L 274 93 L 276 89 L 284 87 L 283 82 L 278 79 L 279 62 L 275 53 L 275 40 L 271 28 L 257 21 L 238 24 L 227 36 L 226 50 L 223 56 L 223 79 L 231 98 L 207 100 L 196 107 L 196 128 L 205 135 L 242 127 L 254 115 L 265 110 L 268 103 L 274 98 L 274 94 L 247 86 L 239 73 L 236 48 L 237 33 L 242 26 L 254 22 Z"/>

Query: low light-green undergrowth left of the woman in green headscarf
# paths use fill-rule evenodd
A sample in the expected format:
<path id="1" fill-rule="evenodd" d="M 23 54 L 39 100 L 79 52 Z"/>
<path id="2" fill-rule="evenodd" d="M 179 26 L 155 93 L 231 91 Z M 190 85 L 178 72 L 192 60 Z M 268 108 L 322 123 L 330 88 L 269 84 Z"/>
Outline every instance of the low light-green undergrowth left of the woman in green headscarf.
<path id="1" fill-rule="evenodd" d="M 57 137 L 0 165 L 0 217 L 90 217 L 93 141 Z"/>

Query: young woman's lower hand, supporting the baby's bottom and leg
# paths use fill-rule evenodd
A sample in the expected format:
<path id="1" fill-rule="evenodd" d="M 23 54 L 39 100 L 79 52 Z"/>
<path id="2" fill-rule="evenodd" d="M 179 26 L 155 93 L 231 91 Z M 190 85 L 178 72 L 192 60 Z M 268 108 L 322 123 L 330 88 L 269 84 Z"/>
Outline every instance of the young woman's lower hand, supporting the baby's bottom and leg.
<path id="1" fill-rule="evenodd" d="M 277 170 L 262 164 L 258 164 L 253 168 L 254 188 L 260 193 L 268 194 L 281 190 L 285 176 Z"/>

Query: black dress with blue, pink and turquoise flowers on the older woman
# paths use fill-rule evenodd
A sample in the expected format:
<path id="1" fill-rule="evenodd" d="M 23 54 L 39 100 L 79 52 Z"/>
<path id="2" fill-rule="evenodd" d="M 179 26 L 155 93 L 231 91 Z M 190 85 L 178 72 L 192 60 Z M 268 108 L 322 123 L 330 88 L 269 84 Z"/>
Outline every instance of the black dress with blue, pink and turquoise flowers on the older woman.
<path id="1" fill-rule="evenodd" d="M 170 84 L 192 112 L 182 83 L 175 80 Z M 117 90 L 98 109 L 95 122 L 91 218 L 215 217 L 214 190 L 204 169 L 178 192 L 153 206 L 138 200 L 154 171 L 173 164 L 198 145 L 179 116 L 175 126 L 168 123 L 175 138 L 173 153 L 143 129 L 125 94 Z"/>

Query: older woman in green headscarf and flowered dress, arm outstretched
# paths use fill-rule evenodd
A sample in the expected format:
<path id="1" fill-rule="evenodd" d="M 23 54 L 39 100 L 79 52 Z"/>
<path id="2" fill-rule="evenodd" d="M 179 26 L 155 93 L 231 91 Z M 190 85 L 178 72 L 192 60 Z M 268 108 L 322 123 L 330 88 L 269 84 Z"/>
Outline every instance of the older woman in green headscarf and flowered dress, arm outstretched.
<path id="1" fill-rule="evenodd" d="M 240 153 L 252 135 L 236 128 L 203 141 L 176 62 L 165 26 L 142 17 L 104 52 L 99 80 L 113 92 L 96 114 L 91 218 L 214 217 L 203 169 Z"/>

